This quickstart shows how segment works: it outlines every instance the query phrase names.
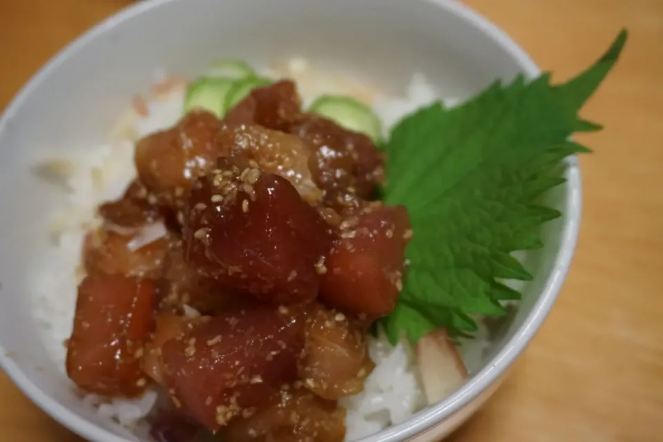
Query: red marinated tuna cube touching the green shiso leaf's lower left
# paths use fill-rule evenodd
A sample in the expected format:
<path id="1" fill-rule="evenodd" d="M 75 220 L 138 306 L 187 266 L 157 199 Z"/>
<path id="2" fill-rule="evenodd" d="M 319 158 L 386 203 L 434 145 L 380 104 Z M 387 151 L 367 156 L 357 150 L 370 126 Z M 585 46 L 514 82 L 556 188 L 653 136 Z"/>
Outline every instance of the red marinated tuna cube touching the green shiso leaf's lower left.
<path id="1" fill-rule="evenodd" d="M 340 224 L 325 263 L 323 303 L 369 319 L 389 314 L 403 288 L 405 245 L 412 235 L 403 206 L 372 203 Z"/>

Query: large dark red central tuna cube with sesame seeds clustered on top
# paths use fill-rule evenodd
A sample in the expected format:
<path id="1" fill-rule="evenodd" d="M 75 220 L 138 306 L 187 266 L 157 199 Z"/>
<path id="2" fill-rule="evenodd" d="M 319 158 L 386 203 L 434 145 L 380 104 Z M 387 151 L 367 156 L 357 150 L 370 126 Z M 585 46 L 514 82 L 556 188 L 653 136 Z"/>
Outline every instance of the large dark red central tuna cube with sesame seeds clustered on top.
<path id="1" fill-rule="evenodd" d="M 247 164 L 247 167 L 244 167 Z M 293 185 L 255 161 L 220 159 L 186 208 L 184 258 L 273 305 L 314 299 L 332 231 Z"/>

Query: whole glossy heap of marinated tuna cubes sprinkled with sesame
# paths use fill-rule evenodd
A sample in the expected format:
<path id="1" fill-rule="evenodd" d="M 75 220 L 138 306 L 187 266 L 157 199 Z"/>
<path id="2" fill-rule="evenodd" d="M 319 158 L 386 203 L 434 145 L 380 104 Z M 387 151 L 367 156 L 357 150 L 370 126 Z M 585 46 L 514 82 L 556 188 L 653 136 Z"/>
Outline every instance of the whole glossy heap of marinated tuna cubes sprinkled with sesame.
<path id="1" fill-rule="evenodd" d="M 383 154 L 256 88 L 141 139 L 137 177 L 84 247 L 67 371 L 87 392 L 169 396 L 153 436 L 341 441 L 338 399 L 402 288 L 405 208 L 371 201 Z"/>

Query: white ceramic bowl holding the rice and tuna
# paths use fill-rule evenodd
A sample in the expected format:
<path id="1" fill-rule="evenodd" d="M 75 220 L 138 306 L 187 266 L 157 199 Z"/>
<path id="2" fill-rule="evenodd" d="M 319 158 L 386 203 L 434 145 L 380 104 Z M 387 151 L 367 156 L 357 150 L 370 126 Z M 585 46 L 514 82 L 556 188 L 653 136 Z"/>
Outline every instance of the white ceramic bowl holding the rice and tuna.
<path id="1" fill-rule="evenodd" d="M 155 67 L 193 75 L 220 56 L 265 61 L 303 54 L 322 66 L 399 90 L 423 72 L 443 94 L 468 97 L 501 77 L 539 69 L 506 34 L 447 0 L 141 1 L 77 39 L 21 90 L 0 120 L 0 361 L 32 401 L 97 442 L 137 441 L 81 403 L 47 356 L 30 312 L 28 268 L 46 243 L 46 214 L 61 197 L 28 170 L 53 156 L 104 141 Z M 546 248 L 526 257 L 535 280 L 492 350 L 447 399 L 365 441 L 438 440 L 486 401 L 532 339 L 561 287 L 575 247 L 581 205 L 575 159 L 550 194 L 564 217 L 544 229 Z"/>

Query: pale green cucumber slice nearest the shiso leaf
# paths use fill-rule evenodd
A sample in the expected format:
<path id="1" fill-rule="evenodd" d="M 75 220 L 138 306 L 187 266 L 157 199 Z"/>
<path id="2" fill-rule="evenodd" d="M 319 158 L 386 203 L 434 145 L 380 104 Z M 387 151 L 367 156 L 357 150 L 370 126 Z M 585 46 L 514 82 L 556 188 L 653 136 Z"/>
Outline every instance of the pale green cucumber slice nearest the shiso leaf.
<path id="1" fill-rule="evenodd" d="M 328 118 L 348 130 L 367 134 L 381 143 L 382 123 L 371 108 L 350 97 L 323 95 L 311 104 L 310 112 Z"/>

